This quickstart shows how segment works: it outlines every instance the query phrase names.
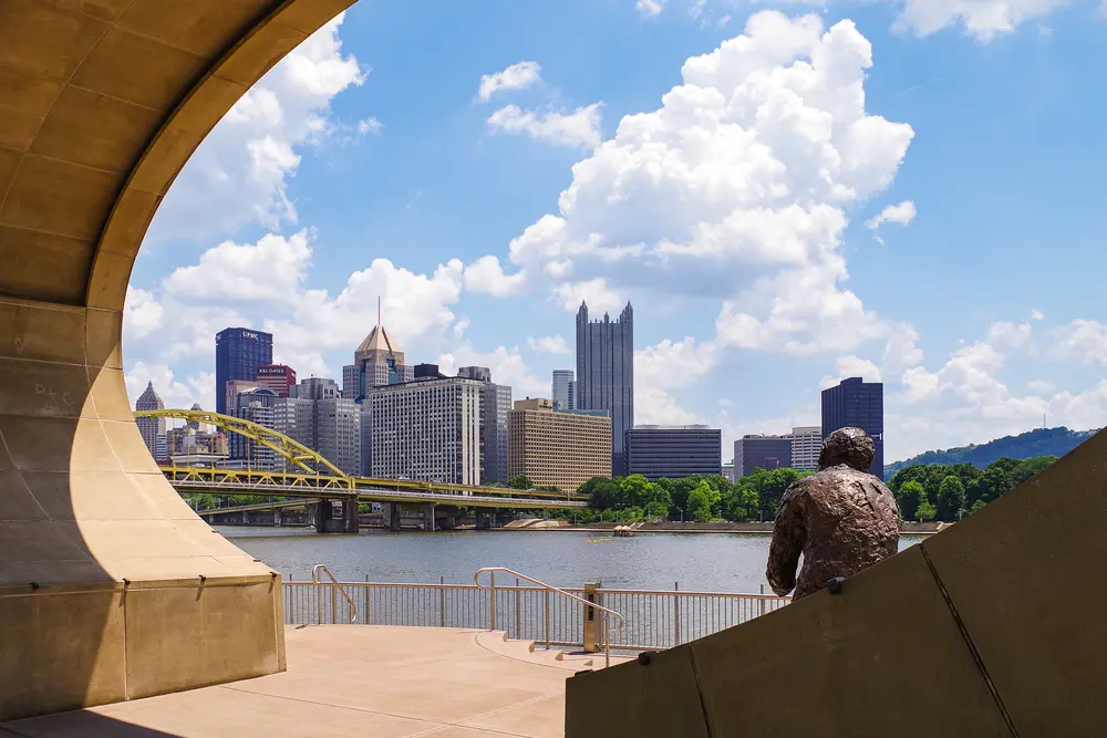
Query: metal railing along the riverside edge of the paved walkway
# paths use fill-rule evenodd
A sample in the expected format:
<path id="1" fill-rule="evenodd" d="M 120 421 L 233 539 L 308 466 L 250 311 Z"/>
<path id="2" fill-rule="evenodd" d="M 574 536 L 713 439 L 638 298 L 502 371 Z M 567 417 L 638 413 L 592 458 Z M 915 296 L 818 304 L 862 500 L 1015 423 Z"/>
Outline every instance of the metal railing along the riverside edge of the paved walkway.
<path id="1" fill-rule="evenodd" d="M 489 594 L 473 584 L 403 582 L 341 582 L 356 603 L 358 623 L 424 627 L 466 627 L 506 631 L 508 637 L 551 646 L 583 647 L 583 607 L 548 590 L 510 580 Z M 561 588 L 578 596 L 587 588 Z M 789 597 L 732 592 L 672 590 L 623 590 L 597 586 L 594 602 L 618 611 L 625 619 L 611 633 L 611 647 L 645 651 L 670 648 L 711 635 L 785 606 Z M 290 625 L 349 622 L 349 605 L 335 585 L 303 581 L 284 582 L 284 622 Z"/>

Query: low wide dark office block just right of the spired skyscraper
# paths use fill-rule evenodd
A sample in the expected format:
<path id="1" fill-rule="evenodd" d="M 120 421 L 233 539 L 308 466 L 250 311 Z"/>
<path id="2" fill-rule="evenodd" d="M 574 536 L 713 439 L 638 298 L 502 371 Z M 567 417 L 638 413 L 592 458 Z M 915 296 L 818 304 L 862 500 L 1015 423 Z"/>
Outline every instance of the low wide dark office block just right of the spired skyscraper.
<path id="1" fill-rule="evenodd" d="M 638 425 L 627 432 L 627 472 L 650 481 L 717 475 L 722 445 L 723 432 L 705 425 Z"/>

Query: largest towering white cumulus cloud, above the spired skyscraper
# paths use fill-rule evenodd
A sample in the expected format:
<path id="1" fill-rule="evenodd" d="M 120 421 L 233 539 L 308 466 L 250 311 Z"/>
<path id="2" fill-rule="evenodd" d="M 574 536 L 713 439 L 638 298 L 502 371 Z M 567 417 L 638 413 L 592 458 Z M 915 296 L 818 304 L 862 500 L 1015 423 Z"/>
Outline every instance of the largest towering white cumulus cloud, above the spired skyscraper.
<path id="1" fill-rule="evenodd" d="M 841 288 L 847 208 L 888 186 L 914 135 L 866 110 L 871 64 L 849 21 L 755 13 L 573 166 L 511 260 L 566 306 L 597 280 L 718 299 L 725 345 L 841 354 L 890 340 L 900 324 Z"/>

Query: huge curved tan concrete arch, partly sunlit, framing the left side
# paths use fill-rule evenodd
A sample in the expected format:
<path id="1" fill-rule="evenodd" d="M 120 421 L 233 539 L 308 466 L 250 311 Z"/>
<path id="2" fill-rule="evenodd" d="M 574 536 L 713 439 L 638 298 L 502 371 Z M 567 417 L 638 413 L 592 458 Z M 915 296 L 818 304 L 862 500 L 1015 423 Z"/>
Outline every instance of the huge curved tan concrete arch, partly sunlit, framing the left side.
<path id="1" fill-rule="evenodd" d="M 280 578 L 157 472 L 131 268 L 235 102 L 353 0 L 0 0 L 0 720 L 283 668 Z"/>

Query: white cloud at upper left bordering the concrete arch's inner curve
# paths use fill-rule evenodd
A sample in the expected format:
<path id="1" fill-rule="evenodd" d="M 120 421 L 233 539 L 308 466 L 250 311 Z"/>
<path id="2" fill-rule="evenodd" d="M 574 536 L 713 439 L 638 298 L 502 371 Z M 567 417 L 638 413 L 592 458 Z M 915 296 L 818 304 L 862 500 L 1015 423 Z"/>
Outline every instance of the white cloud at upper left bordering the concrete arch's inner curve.
<path id="1" fill-rule="evenodd" d="M 342 54 L 342 21 L 340 14 L 301 43 L 216 125 L 174 181 L 149 240 L 296 222 L 288 178 L 300 166 L 298 149 L 337 128 L 331 101 L 366 75 L 352 54 Z"/>

